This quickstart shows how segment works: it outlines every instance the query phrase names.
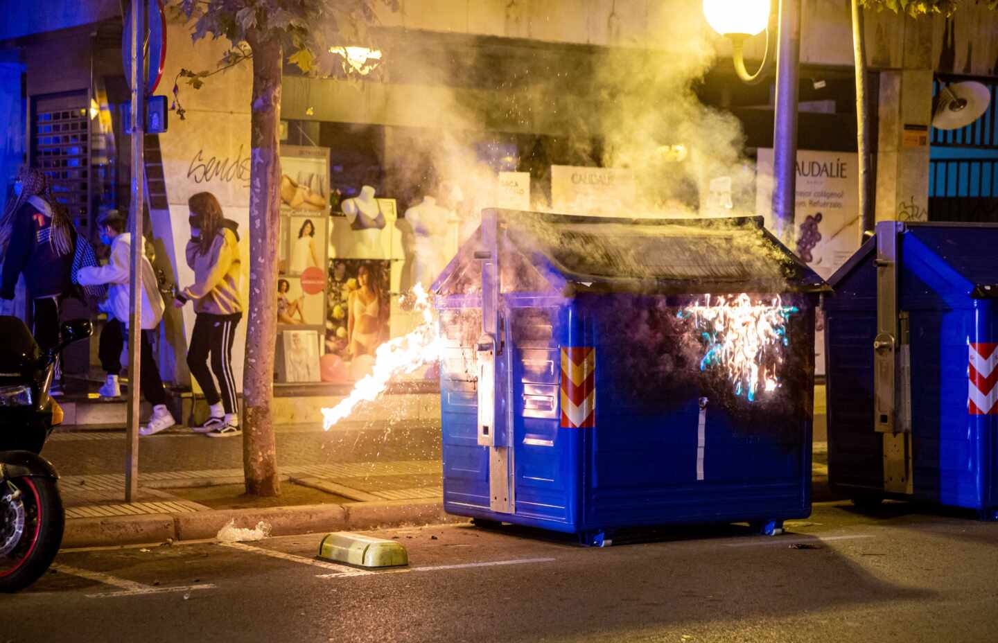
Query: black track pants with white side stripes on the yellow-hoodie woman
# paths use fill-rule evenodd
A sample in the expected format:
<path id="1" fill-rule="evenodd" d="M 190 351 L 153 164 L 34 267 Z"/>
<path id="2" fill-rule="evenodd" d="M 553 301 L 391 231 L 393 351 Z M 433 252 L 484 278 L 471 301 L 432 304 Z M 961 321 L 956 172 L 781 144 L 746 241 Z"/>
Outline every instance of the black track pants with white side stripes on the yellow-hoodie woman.
<path id="1" fill-rule="evenodd" d="M 239 408 L 236 401 L 236 378 L 233 376 L 233 339 L 236 337 L 236 326 L 242 318 L 242 313 L 199 313 L 194 322 L 191 346 L 188 348 L 188 367 L 205 391 L 205 399 L 209 404 L 217 404 L 221 400 L 227 413 L 235 413 Z M 211 370 L 208 366 L 209 358 Z M 215 379 L 219 380 L 218 387 Z"/>

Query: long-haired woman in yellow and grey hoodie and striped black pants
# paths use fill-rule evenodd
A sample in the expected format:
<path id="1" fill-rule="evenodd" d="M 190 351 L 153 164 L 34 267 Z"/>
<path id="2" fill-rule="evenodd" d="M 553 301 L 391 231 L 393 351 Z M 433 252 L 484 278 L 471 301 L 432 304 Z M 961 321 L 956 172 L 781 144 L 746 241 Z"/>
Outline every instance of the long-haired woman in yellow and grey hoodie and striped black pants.
<path id="1" fill-rule="evenodd" d="M 210 192 L 191 197 L 188 207 L 191 241 L 187 262 L 195 283 L 177 294 L 174 307 L 183 308 L 194 300 L 198 317 L 188 347 L 188 367 L 211 408 L 209 418 L 192 428 L 212 437 L 241 435 L 233 376 L 233 340 L 243 318 L 239 225 L 223 216 L 219 200 Z"/>

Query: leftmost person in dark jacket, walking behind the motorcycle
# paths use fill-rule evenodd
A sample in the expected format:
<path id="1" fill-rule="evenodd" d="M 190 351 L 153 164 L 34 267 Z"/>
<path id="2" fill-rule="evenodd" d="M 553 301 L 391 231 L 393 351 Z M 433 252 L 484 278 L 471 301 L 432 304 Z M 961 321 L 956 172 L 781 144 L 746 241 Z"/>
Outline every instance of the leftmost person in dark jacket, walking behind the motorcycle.
<path id="1" fill-rule="evenodd" d="M 14 198 L 0 217 L 0 299 L 14 299 L 23 275 L 35 340 L 43 350 L 59 343 L 59 306 L 72 289 L 75 243 L 76 232 L 66 209 L 53 197 L 48 176 L 22 168 L 14 180 Z M 57 386 L 53 392 L 59 392 Z"/>

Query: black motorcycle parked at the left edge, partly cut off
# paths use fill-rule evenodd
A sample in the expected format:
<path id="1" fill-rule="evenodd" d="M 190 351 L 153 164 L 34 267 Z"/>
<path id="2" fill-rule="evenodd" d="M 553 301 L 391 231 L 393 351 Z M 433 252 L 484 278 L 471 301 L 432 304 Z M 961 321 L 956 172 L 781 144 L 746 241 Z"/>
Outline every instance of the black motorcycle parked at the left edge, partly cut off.
<path id="1" fill-rule="evenodd" d="M 63 323 L 62 341 L 43 352 L 24 322 L 0 317 L 0 592 L 38 580 L 62 544 L 59 474 L 39 453 L 63 419 L 49 395 L 56 357 L 92 333 L 87 320 Z"/>

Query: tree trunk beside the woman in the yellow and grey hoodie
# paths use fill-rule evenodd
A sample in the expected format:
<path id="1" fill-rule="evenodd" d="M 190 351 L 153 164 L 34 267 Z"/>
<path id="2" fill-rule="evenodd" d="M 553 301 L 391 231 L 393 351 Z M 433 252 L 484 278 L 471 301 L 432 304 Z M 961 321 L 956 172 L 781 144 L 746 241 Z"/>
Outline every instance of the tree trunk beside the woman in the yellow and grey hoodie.
<path id="1" fill-rule="evenodd" d="M 250 307 L 243 375 L 243 469 L 247 493 L 280 492 L 270 402 L 277 336 L 277 248 L 280 241 L 280 90 L 278 40 L 249 37 L 252 48 L 250 124 Z"/>

